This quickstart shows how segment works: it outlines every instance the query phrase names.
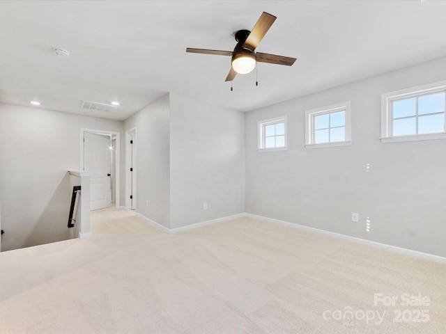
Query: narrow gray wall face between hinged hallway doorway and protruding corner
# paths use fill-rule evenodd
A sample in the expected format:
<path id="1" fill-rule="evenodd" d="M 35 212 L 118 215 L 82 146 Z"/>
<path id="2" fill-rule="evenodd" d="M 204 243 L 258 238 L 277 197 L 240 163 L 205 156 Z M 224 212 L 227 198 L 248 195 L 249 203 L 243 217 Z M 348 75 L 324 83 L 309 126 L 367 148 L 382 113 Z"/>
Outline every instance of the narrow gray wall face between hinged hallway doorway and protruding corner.
<path id="1" fill-rule="evenodd" d="M 170 226 L 169 122 L 167 94 L 124 125 L 125 131 L 137 127 L 137 212 L 166 228 Z"/>

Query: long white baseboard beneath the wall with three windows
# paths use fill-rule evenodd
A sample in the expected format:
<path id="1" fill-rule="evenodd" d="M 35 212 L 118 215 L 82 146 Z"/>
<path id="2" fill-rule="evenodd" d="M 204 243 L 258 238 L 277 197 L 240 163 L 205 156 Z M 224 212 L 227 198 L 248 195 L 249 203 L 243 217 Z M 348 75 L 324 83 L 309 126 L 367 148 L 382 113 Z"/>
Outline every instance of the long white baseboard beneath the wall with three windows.
<path id="1" fill-rule="evenodd" d="M 249 218 L 259 219 L 261 221 L 268 221 L 270 223 L 276 223 L 276 224 L 288 226 L 290 228 L 298 228 L 300 230 L 306 230 L 306 231 L 309 231 L 309 232 L 325 234 L 325 235 L 328 235 L 330 237 L 335 237 L 337 239 L 344 239 L 344 240 L 352 241 L 352 242 L 355 242 L 357 244 L 364 244 L 364 245 L 373 246 L 373 247 L 380 248 L 380 249 L 390 250 L 390 251 L 392 251 L 394 253 L 399 253 L 399 254 L 402 254 L 402 255 L 408 255 L 408 256 L 411 256 L 411 257 L 417 257 L 417 258 L 424 259 L 424 260 L 430 260 L 430 261 L 440 262 L 440 263 L 445 263 L 446 264 L 446 257 L 439 256 L 439 255 L 433 255 L 433 254 L 429 254 L 429 253 L 422 253 L 422 252 L 419 252 L 418 250 L 411 250 L 411 249 L 408 249 L 408 248 L 402 248 L 402 247 L 398 247 L 398 246 L 381 244 L 380 242 L 376 242 L 376 241 L 361 239 L 361 238 L 357 238 L 357 237 L 351 237 L 351 236 L 346 235 L 346 234 L 340 234 L 340 233 L 336 233 L 336 232 L 320 230 L 318 228 L 310 228 L 310 227 L 305 226 L 305 225 L 289 223 L 288 221 L 280 221 L 279 219 L 268 218 L 268 217 L 264 217 L 264 216 L 257 216 L 256 214 L 248 214 L 248 213 L 246 213 L 245 216 L 249 217 Z"/>

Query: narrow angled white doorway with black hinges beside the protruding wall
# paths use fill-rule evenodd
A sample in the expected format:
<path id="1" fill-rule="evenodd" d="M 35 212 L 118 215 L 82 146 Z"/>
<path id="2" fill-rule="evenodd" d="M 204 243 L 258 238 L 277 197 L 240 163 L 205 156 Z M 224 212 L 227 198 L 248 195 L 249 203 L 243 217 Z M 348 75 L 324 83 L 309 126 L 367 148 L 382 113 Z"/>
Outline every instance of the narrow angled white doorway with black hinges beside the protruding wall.
<path id="1" fill-rule="evenodd" d="M 125 208 L 137 209 L 137 128 L 125 132 Z"/>

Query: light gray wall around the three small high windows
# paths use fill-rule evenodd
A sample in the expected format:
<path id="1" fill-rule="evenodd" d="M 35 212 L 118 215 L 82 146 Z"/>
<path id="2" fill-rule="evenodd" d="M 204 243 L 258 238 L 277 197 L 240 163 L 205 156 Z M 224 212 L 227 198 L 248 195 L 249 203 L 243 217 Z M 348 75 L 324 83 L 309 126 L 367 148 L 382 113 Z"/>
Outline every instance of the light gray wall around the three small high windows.
<path id="1" fill-rule="evenodd" d="M 446 141 L 379 140 L 380 94 L 444 80 L 445 68 L 440 58 L 246 113 L 246 211 L 446 256 Z M 305 110 L 344 101 L 353 145 L 306 149 Z M 281 115 L 289 150 L 256 152 L 257 121 Z"/>

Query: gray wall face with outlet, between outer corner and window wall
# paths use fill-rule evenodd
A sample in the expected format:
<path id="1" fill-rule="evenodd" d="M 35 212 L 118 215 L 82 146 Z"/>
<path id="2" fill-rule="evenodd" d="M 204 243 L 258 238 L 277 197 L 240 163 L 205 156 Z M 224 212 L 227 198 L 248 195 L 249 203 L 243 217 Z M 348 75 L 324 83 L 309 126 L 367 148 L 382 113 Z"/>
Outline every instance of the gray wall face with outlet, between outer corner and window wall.
<path id="1" fill-rule="evenodd" d="M 174 93 L 170 113 L 170 228 L 244 212 L 243 113 Z"/>

